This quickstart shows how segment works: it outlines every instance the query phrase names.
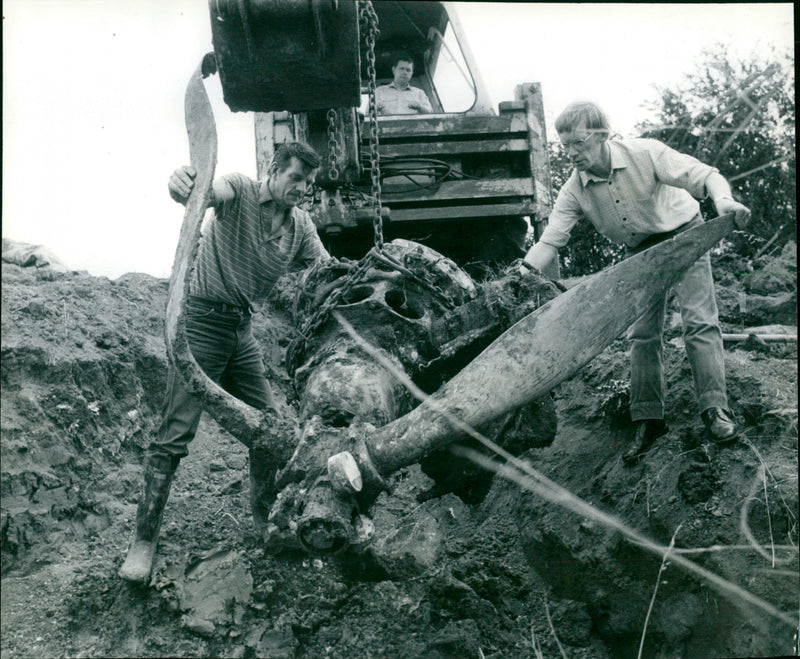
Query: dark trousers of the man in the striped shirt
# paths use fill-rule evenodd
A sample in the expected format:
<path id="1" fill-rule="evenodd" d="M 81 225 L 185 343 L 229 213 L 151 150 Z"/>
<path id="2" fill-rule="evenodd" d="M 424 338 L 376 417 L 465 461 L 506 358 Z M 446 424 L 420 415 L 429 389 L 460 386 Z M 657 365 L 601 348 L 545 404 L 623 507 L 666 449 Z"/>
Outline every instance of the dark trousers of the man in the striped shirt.
<path id="1" fill-rule="evenodd" d="M 186 337 L 200 368 L 225 391 L 258 409 L 273 405 L 261 350 L 253 337 L 250 312 L 188 298 Z M 151 456 L 180 460 L 189 453 L 200 415 L 200 400 L 191 394 L 170 364 L 161 424 L 150 443 Z"/>

